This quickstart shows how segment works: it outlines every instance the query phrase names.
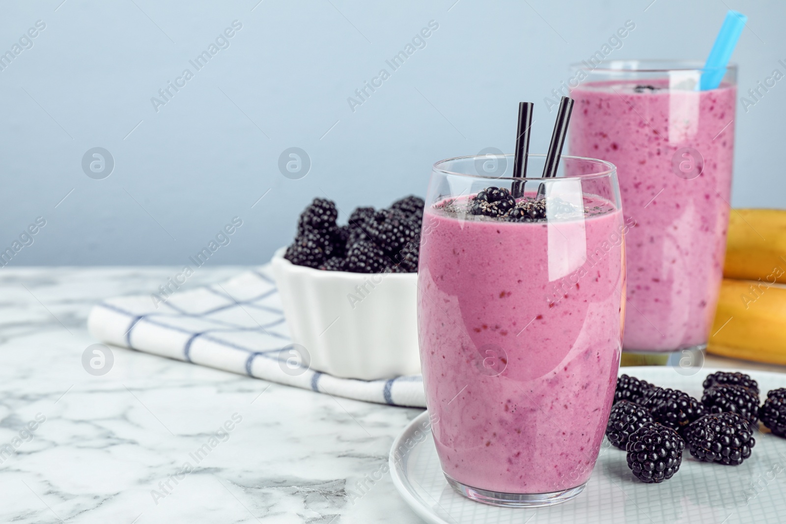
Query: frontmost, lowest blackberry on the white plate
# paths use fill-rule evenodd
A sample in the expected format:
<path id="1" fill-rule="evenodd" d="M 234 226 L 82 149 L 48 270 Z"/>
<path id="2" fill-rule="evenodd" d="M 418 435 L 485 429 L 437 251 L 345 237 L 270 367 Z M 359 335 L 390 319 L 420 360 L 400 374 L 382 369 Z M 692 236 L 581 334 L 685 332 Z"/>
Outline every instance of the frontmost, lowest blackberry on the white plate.
<path id="1" fill-rule="evenodd" d="M 628 467 L 641 482 L 663 482 L 680 469 L 685 441 L 670 427 L 646 423 L 628 439 Z"/>

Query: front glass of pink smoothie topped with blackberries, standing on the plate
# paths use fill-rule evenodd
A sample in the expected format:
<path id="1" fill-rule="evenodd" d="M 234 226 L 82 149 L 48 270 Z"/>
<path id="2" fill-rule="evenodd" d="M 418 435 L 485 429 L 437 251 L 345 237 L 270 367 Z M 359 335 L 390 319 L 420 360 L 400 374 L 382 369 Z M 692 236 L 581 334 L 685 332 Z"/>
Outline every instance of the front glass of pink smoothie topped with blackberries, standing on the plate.
<path id="1" fill-rule="evenodd" d="M 530 155 L 529 172 L 544 163 Z M 512 165 L 509 155 L 434 165 L 421 365 L 450 485 L 487 504 L 543 506 L 578 495 L 597 460 L 622 348 L 626 225 L 611 163 L 563 156 L 556 178 L 505 178 Z M 514 206 L 496 188 L 520 180 Z"/>

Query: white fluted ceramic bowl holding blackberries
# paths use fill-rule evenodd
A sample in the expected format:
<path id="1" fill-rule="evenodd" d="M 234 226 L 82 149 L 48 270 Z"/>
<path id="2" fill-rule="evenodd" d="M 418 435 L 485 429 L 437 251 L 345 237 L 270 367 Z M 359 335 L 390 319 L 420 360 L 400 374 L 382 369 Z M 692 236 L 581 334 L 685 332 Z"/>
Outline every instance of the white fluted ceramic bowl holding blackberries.
<path id="1" fill-rule="evenodd" d="M 376 380 L 421 372 L 417 273 L 347 273 L 296 266 L 276 251 L 276 279 L 292 342 L 310 367 Z"/>

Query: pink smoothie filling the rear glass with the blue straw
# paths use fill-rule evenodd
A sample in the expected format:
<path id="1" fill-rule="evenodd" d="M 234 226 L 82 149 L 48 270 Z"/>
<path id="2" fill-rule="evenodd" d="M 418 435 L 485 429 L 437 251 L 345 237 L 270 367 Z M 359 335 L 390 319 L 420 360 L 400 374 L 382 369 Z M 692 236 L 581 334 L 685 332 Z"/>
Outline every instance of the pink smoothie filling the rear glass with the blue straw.
<path id="1" fill-rule="evenodd" d="M 658 89 L 637 92 L 642 83 Z M 571 155 L 615 164 L 626 222 L 636 224 L 626 236 L 624 348 L 667 351 L 707 343 L 729 219 L 736 88 L 590 82 L 571 96 Z M 696 178 L 675 174 L 673 157 L 681 148 L 703 156 Z M 678 163 L 687 159 L 678 157 Z"/>

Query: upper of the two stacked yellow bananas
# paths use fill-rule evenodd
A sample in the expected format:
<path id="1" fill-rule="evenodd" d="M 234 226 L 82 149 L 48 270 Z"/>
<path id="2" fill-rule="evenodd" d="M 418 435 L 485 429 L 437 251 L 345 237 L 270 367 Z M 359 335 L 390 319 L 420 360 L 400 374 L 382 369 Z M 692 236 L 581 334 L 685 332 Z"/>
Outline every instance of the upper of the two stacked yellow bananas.
<path id="1" fill-rule="evenodd" d="M 731 211 L 723 276 L 786 283 L 786 210 Z"/>

